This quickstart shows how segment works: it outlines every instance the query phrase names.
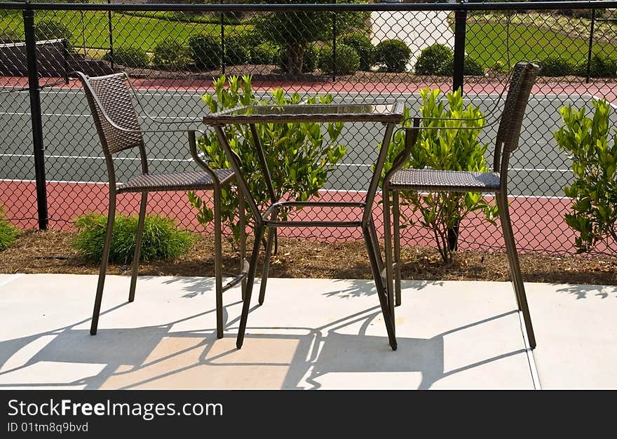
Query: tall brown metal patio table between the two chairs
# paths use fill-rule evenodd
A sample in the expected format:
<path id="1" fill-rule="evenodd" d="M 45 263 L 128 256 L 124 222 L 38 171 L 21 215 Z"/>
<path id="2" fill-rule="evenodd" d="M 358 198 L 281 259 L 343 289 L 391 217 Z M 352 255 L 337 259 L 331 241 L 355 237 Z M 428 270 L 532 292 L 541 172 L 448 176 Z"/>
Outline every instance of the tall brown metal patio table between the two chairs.
<path id="1" fill-rule="evenodd" d="M 269 269 L 269 254 L 272 248 L 273 236 L 276 234 L 278 227 L 361 227 L 362 236 L 365 240 L 367 255 L 371 266 L 372 276 L 377 287 L 377 296 L 381 305 L 381 312 L 384 315 L 384 323 L 388 333 L 388 340 L 393 350 L 396 349 L 396 338 L 393 314 L 391 313 L 392 297 L 388 297 L 388 290 L 384 283 L 384 262 L 381 259 L 381 250 L 375 230 L 372 217 L 372 208 L 374 206 L 375 194 L 379 186 L 381 170 L 384 168 L 388 146 L 390 144 L 393 129 L 397 123 L 403 119 L 403 104 L 299 104 L 299 105 L 249 105 L 247 107 L 238 107 L 236 109 L 226 110 L 215 114 L 209 114 L 203 117 L 203 123 L 212 126 L 219 143 L 225 151 L 229 159 L 231 168 L 236 175 L 236 184 L 238 190 L 242 191 L 246 204 L 252 212 L 255 220 L 255 243 L 253 246 L 252 258 L 250 261 L 250 269 L 247 276 L 247 287 L 243 302 L 242 315 L 240 316 L 240 327 L 238 328 L 238 338 L 236 346 L 238 349 L 242 347 L 248 312 L 250 309 L 250 299 L 252 287 L 255 281 L 255 271 L 257 269 L 257 260 L 259 256 L 259 245 L 264 236 L 264 229 L 268 227 L 270 233 L 266 243 L 266 257 L 264 259 L 264 275 L 262 276 L 262 291 L 259 295 L 259 303 L 264 300 L 265 284 Z M 280 201 L 273 187 L 270 170 L 264 154 L 262 140 L 259 139 L 256 125 L 259 123 L 335 123 L 335 122 L 362 122 L 362 123 L 383 123 L 384 139 L 379 148 L 377 160 L 374 162 L 372 177 L 369 180 L 368 187 L 358 187 L 358 189 L 366 189 L 364 201 L 360 202 L 345 202 L 345 201 Z M 257 158 L 259 166 L 266 182 L 266 187 L 269 193 L 269 205 L 262 212 L 258 206 L 253 194 L 249 189 L 246 181 L 245 167 L 243 166 L 240 156 L 231 148 L 229 140 L 225 134 L 225 126 L 246 124 L 250 126 L 250 133 L 253 138 L 255 148 L 257 149 Z M 347 149 L 352 149 L 353 145 L 347 145 Z M 361 219 L 355 220 L 340 220 L 328 218 L 316 219 L 279 219 L 278 210 L 281 208 L 319 208 L 320 212 L 330 208 L 356 208 L 360 209 Z M 360 215 L 358 215 L 360 217 Z"/>

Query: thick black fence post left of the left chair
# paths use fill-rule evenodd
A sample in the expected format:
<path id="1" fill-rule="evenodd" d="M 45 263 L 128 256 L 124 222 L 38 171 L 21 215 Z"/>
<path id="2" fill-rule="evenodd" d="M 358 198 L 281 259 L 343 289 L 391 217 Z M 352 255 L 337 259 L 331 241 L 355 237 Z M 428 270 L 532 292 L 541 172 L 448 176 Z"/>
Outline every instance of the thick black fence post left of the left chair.
<path id="1" fill-rule="evenodd" d="M 41 88 L 36 69 L 36 36 L 34 35 L 34 11 L 29 4 L 22 11 L 26 36 L 28 65 L 28 90 L 30 95 L 30 119 L 32 120 L 32 146 L 34 147 L 34 176 L 36 178 L 36 210 L 39 213 L 39 229 L 46 230 L 47 188 L 45 182 L 45 149 L 43 148 L 43 122 L 41 121 Z"/>

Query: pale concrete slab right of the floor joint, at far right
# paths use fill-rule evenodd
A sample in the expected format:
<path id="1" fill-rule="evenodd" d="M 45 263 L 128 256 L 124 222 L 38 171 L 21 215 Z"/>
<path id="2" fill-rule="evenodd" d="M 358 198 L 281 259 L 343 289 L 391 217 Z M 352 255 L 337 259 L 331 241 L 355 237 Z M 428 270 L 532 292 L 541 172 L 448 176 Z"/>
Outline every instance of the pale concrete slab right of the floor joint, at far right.
<path id="1" fill-rule="evenodd" d="M 617 389 L 617 286 L 527 284 L 543 389 Z"/>

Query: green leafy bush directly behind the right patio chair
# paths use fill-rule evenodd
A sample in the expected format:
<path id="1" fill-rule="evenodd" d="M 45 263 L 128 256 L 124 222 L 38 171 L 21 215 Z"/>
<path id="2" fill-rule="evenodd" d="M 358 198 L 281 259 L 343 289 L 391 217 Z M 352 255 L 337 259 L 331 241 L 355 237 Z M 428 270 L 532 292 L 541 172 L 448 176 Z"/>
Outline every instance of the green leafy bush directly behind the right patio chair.
<path id="1" fill-rule="evenodd" d="M 420 107 L 423 117 L 420 137 L 412 150 L 409 161 L 404 168 L 435 169 L 435 170 L 468 170 L 489 171 L 489 166 L 484 157 L 488 144 L 480 143 L 478 139 L 484 126 L 484 114 L 480 109 L 469 104 L 463 104 L 461 90 L 447 93 L 448 108 L 438 99 L 440 90 L 430 88 L 420 91 L 422 104 Z M 456 118 L 467 120 L 430 120 L 427 118 Z M 409 109 L 405 109 L 405 120 L 409 121 Z M 406 126 L 410 123 L 407 122 Z M 461 128 L 458 130 L 435 128 Z M 405 133 L 398 130 L 393 136 L 388 158 L 384 165 L 383 178 L 392 168 L 395 156 L 405 146 Z M 451 262 L 454 248 L 448 240 L 448 231 L 460 224 L 470 212 L 482 210 L 487 221 L 494 223 L 497 215 L 496 205 L 489 205 L 481 194 L 475 192 L 433 192 L 420 194 L 415 191 L 401 191 L 400 201 L 402 205 L 409 205 L 412 212 L 420 212 L 419 224 L 433 232 L 435 242 L 444 262 Z M 411 215 L 405 215 L 401 210 L 402 219 L 413 225 Z"/>

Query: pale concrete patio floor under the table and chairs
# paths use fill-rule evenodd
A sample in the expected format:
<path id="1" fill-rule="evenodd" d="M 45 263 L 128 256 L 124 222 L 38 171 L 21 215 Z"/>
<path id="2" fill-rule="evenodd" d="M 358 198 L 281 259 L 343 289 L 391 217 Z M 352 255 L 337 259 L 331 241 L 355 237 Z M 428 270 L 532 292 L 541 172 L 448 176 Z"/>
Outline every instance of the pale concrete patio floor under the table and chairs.
<path id="1" fill-rule="evenodd" d="M 215 337 L 212 278 L 0 274 L 0 389 L 617 389 L 617 287 L 404 281 L 391 351 L 370 281 L 271 278 L 243 349 L 240 290 Z"/>

